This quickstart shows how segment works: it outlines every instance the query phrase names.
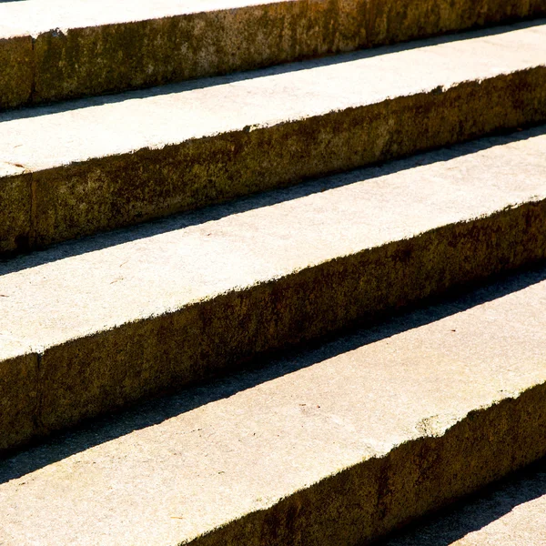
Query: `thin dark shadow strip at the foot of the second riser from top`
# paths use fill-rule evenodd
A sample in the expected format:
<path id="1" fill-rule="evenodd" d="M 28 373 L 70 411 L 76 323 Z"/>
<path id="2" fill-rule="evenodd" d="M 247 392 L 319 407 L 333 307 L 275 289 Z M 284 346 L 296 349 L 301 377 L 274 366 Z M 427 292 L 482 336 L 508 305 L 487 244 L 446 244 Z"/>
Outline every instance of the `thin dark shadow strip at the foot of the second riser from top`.
<path id="1" fill-rule="evenodd" d="M 130 241 L 153 238 L 163 233 L 184 229 L 186 227 L 203 225 L 207 222 L 214 222 L 223 217 L 241 214 L 249 210 L 272 207 L 279 203 L 333 190 L 338 187 L 349 186 L 356 182 L 388 176 L 414 167 L 450 161 L 450 159 L 456 157 L 475 154 L 491 147 L 503 146 L 511 142 L 526 140 L 541 135 L 546 135 L 546 126 L 516 131 L 509 135 L 480 138 L 479 140 L 452 147 L 444 147 L 439 150 L 399 159 L 383 165 L 365 167 L 346 173 L 340 173 L 338 175 L 308 180 L 292 187 L 278 188 L 248 197 L 239 197 L 237 200 L 228 201 L 227 203 L 214 207 L 201 208 L 187 213 L 179 213 L 133 227 L 125 227 L 107 233 L 101 233 L 93 237 L 67 241 L 66 243 L 61 243 L 51 248 L 46 248 L 45 250 L 36 250 L 27 255 L 0 259 L 0 277 L 9 273 L 14 273 L 15 271 L 35 268 L 61 259 L 80 256 L 89 252 L 96 252 L 103 248 L 115 247 L 116 245 L 122 245 Z M 408 188 L 408 191 L 411 191 L 410 187 Z"/>

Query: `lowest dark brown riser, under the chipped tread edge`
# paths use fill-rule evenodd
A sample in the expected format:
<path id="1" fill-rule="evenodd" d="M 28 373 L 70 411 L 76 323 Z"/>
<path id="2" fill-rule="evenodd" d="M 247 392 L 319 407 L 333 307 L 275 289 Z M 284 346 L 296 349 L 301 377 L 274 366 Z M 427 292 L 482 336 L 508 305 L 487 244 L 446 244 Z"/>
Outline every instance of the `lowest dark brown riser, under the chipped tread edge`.
<path id="1" fill-rule="evenodd" d="M 369 544 L 546 454 L 545 400 L 542 384 L 472 411 L 439 437 L 402 443 L 188 546 Z"/>

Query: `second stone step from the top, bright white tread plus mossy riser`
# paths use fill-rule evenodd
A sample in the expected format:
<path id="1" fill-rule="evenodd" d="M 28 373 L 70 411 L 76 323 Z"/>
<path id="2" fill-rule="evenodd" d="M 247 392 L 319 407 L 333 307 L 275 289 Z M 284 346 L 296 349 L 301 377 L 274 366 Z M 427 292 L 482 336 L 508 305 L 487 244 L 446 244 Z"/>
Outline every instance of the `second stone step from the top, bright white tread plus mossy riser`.
<path id="1" fill-rule="evenodd" d="M 546 24 L 0 116 L 0 252 L 546 121 Z"/>

